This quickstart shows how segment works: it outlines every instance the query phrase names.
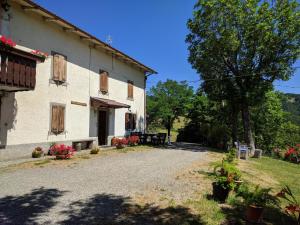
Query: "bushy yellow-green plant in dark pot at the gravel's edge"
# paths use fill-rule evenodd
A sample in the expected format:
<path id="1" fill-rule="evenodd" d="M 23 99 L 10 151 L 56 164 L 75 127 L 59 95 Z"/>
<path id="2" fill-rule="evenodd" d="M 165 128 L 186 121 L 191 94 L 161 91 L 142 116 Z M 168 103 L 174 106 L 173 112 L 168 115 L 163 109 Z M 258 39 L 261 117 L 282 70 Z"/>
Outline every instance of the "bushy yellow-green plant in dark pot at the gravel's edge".
<path id="1" fill-rule="evenodd" d="M 215 164 L 214 175 L 213 196 L 216 200 L 224 202 L 230 191 L 237 188 L 241 173 L 233 164 L 223 160 L 221 164 Z"/>

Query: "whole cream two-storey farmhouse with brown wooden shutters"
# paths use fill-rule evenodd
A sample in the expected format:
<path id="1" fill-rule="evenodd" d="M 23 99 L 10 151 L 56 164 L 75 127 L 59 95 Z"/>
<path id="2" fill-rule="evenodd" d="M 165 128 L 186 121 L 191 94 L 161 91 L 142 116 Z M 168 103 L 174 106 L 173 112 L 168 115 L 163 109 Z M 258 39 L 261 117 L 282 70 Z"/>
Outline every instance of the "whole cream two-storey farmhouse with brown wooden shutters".
<path id="1" fill-rule="evenodd" d="M 1 1 L 0 33 L 0 160 L 144 131 L 154 70 L 30 0 Z"/>

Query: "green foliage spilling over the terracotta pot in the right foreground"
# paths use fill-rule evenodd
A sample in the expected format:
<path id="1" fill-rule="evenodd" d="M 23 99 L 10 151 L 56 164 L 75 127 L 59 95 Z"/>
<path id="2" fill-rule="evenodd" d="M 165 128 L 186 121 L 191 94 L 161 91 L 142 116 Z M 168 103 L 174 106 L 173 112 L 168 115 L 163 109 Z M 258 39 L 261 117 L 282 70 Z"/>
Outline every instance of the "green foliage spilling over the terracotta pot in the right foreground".
<path id="1" fill-rule="evenodd" d="M 238 190 L 237 196 L 242 197 L 246 205 L 257 207 L 265 207 L 267 204 L 278 205 L 276 196 L 270 194 L 271 190 L 271 188 L 261 188 L 257 185 L 251 191 L 248 185 L 242 185 Z"/>

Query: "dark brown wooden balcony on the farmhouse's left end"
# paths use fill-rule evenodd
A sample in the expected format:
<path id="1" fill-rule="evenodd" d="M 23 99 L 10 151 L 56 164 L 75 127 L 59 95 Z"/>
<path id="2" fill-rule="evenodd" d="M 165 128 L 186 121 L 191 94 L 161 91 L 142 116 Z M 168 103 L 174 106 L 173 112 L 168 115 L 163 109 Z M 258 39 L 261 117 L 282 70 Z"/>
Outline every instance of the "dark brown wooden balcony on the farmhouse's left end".
<path id="1" fill-rule="evenodd" d="M 0 91 L 34 90 L 37 61 L 43 57 L 16 49 L 0 47 Z"/>

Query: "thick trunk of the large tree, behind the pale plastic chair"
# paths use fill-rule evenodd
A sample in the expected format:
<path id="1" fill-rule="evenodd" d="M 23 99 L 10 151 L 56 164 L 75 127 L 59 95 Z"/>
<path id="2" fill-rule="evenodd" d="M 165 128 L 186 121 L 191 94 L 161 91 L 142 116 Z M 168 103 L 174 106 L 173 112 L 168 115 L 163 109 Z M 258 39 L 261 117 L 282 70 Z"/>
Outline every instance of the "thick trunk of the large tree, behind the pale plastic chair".
<path id="1" fill-rule="evenodd" d="M 250 146 L 250 151 L 251 151 L 250 154 L 253 155 L 255 151 L 255 144 L 254 144 L 251 124 L 250 124 L 249 106 L 247 104 L 242 105 L 242 119 L 243 119 L 245 141 Z"/>

